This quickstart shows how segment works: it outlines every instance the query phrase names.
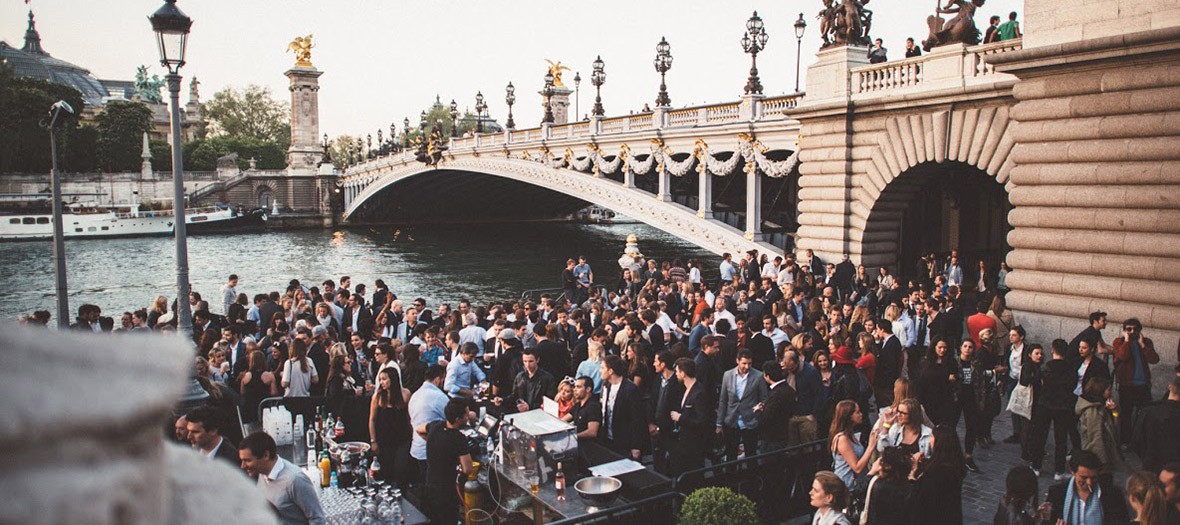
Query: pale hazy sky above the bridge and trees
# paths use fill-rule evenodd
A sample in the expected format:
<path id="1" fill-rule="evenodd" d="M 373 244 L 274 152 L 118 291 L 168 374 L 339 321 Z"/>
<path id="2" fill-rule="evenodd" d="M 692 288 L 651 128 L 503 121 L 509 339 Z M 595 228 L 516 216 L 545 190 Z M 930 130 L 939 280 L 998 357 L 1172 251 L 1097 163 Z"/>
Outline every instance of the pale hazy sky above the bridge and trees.
<path id="1" fill-rule="evenodd" d="M 20 47 L 27 8 L 37 17 L 42 47 L 53 57 L 88 68 L 101 79 L 135 78 L 148 65 L 163 76 L 148 15 L 160 0 L 0 0 L 0 39 Z M 179 0 L 194 19 L 189 35 L 185 86 L 196 76 L 208 100 L 225 87 L 257 84 L 288 99 L 283 72 L 294 65 L 287 45 L 314 34 L 312 61 L 320 77 L 321 133 L 388 133 L 404 118 L 417 125 L 419 112 L 441 97 L 460 109 L 483 92 L 489 112 L 506 119 L 504 86 L 517 87 L 518 127 L 540 122 L 546 59 L 560 60 L 583 81 L 571 110 L 594 105 L 590 64 L 602 55 L 607 116 L 636 111 L 655 99 L 660 77 L 653 67 L 661 37 L 671 45 L 668 91 L 673 106 L 736 100 L 749 71 L 740 39 L 753 11 L 766 24 L 767 48 L 758 57 L 767 96 L 794 91 L 794 21 L 807 21 L 802 38 L 802 77 L 820 46 L 815 14 L 820 0 Z M 904 55 L 906 37 L 922 41 L 933 0 L 874 0 L 873 37 L 891 59 Z M 992 14 L 1023 13 L 1022 0 L 988 0 L 976 22 Z M 1022 17 L 1023 19 L 1023 17 Z M 806 85 L 804 80 L 802 85 Z M 182 101 L 186 101 L 186 90 Z M 579 100 L 576 100 L 579 99 Z M 400 131 L 399 131 L 400 132 Z"/>

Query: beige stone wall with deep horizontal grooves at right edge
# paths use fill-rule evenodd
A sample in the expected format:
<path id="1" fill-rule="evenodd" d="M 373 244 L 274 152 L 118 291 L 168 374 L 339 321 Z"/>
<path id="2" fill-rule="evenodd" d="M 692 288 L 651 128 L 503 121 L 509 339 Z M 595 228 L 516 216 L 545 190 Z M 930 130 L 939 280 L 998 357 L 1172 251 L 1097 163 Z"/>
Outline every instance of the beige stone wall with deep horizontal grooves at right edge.
<path id="1" fill-rule="evenodd" d="M 1047 333 L 1076 332 L 1094 310 L 1113 323 L 1139 317 L 1174 365 L 1180 28 L 1027 48 L 996 64 L 1021 78 L 1009 306 Z"/>

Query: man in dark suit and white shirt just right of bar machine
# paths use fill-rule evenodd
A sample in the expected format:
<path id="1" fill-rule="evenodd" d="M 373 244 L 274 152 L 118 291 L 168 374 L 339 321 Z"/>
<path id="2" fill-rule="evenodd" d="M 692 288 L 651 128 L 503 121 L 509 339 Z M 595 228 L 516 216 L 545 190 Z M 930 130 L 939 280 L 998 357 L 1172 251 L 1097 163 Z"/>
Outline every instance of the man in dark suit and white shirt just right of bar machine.
<path id="1" fill-rule="evenodd" d="M 627 458 L 640 460 L 647 433 L 647 408 L 640 388 L 624 378 L 627 362 L 617 355 L 603 357 L 602 425 L 599 439 L 607 448 Z"/>

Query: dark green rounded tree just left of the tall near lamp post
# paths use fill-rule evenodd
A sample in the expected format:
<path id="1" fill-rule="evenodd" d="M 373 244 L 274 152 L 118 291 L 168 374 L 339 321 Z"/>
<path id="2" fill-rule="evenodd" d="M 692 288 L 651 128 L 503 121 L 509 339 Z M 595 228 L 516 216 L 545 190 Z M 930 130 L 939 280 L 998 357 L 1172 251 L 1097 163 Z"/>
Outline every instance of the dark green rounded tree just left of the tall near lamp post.
<path id="1" fill-rule="evenodd" d="M 94 118 L 98 164 L 106 171 L 139 171 L 143 134 L 151 129 L 151 110 L 140 103 L 111 100 Z"/>

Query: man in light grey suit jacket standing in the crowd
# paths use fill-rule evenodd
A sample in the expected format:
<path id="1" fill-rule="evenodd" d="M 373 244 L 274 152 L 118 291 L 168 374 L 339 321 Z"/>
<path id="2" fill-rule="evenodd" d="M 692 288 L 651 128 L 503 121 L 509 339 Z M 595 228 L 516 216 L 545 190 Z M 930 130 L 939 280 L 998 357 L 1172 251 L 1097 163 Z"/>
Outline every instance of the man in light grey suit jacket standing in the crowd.
<path id="1" fill-rule="evenodd" d="M 717 402 L 717 435 L 725 439 L 726 461 L 738 458 L 738 445 L 746 446 L 746 457 L 758 454 L 758 411 L 768 395 L 762 373 L 750 368 L 754 355 L 742 349 L 738 366 L 721 378 Z"/>

